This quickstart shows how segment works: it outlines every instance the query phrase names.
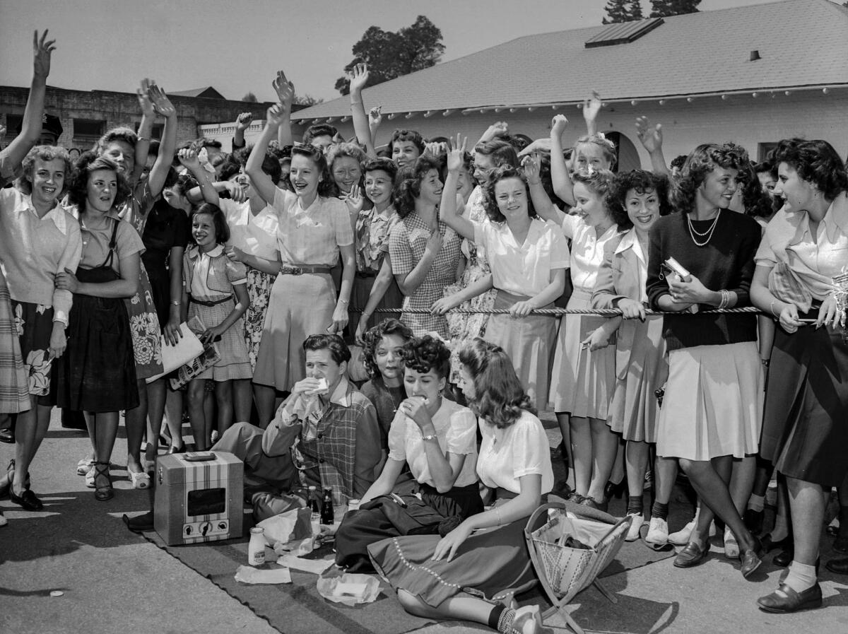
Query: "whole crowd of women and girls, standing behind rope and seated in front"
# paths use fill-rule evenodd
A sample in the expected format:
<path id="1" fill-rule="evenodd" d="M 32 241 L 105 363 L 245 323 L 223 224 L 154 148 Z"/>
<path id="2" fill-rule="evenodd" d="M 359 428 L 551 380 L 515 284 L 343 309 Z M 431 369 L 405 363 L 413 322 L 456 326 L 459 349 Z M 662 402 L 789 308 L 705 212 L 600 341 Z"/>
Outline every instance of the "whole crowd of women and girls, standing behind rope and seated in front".
<path id="1" fill-rule="evenodd" d="M 36 37 L 34 112 L 50 52 Z M 605 510 L 608 483 L 626 470 L 630 540 L 646 521 L 653 455 L 645 539 L 669 541 L 679 464 L 699 498 L 676 535 L 681 568 L 706 558 L 714 517 L 743 576 L 760 565 L 762 542 L 741 517 L 760 453 L 789 489 L 795 548 L 780 587 L 759 604 L 820 605 L 824 504 L 831 487 L 848 489 L 846 296 L 834 282 L 848 264 L 848 175 L 833 147 L 786 139 L 755 168 L 744 148 L 706 143 L 671 175 L 660 128 L 639 120 L 653 172 L 616 174 L 615 146 L 594 133 L 593 98 L 583 110 L 590 134 L 568 151 L 558 115 L 550 144 L 527 147 L 499 124 L 472 153 L 460 136 L 444 147 L 398 130 L 378 154 L 365 81 L 360 66 L 356 142 L 325 125 L 293 144 L 294 92 L 282 71 L 257 142 L 231 155 L 204 139 L 175 153 L 176 110 L 147 82 L 141 129 L 107 132 L 74 165 L 60 147 L 29 149 L 26 120 L 20 143 L 3 151 L 3 172 L 17 161 L 20 177 L 0 192 L 0 317 L 12 324 L 0 329 L 11 386 L 0 397 L 18 413 L 5 479 L 13 502 L 42 508 L 27 474 L 52 404 L 85 412 L 92 457 L 78 472 L 98 500 L 113 496 L 122 410 L 127 470 L 135 487 L 149 486 L 165 410 L 169 451 L 183 444 L 181 392 L 157 378 L 160 334 L 175 343 L 182 320 L 202 320 L 202 341 L 220 354 L 187 387 L 198 449 L 233 421 L 267 425 L 303 378 L 304 339 L 338 332 L 365 344 L 373 377 L 364 389 L 382 411 L 382 471 L 363 502 L 394 491 L 405 464 L 413 488 L 453 509 L 440 537 L 387 528 L 390 539 L 365 544 L 380 521 L 345 520 L 348 564 L 375 566 L 410 612 L 500 631 L 537 623 L 532 610 L 487 599 L 533 581 L 526 553 L 510 544 L 555 487 L 542 409 L 561 425 L 572 475 L 556 488 L 572 501 Z M 151 152 L 156 114 L 165 132 Z M 573 311 L 565 318 L 544 311 L 564 301 Z M 460 304 L 482 312 L 454 319 Z M 712 310 L 751 306 L 762 310 L 759 324 L 752 311 Z M 479 447 L 474 415 L 444 398 L 452 393 L 480 419 Z M 490 510 L 478 479 L 501 498 Z M 840 530 L 848 537 L 848 521 Z M 487 554 L 491 544 L 503 558 Z"/>

